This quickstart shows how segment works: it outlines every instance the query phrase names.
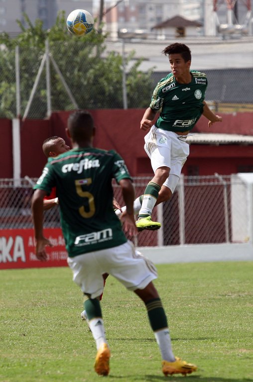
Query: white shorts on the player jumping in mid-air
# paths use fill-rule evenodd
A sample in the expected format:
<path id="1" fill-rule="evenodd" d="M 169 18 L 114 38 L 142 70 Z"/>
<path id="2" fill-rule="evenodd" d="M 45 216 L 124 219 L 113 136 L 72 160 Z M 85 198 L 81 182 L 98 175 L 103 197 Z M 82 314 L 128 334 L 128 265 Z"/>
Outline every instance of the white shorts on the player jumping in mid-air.
<path id="1" fill-rule="evenodd" d="M 173 131 L 158 129 L 154 125 L 145 135 L 144 150 L 151 160 L 153 172 L 159 167 L 170 168 L 170 174 L 163 186 L 173 193 L 178 184 L 182 167 L 189 155 L 187 135 L 178 135 Z"/>

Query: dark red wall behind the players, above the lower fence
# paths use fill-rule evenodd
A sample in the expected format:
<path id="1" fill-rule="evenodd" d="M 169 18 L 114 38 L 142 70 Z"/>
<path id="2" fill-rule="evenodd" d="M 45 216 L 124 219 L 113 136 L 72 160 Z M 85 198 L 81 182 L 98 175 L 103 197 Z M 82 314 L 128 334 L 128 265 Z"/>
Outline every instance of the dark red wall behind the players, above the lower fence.
<path id="1" fill-rule="evenodd" d="M 49 136 L 59 135 L 70 143 L 65 134 L 67 119 L 71 111 L 54 112 L 49 120 L 26 120 L 21 124 L 21 177 L 38 177 L 46 163 L 42 143 Z M 151 176 L 150 161 L 143 149 L 144 132 L 139 124 L 144 109 L 100 109 L 90 110 L 94 117 L 97 133 L 94 145 L 102 149 L 115 149 L 125 159 L 132 176 Z M 0 178 L 12 178 L 11 121 L 0 120 Z M 201 117 L 193 132 L 220 132 L 253 134 L 253 113 L 224 114 L 223 122 L 211 128 L 205 117 Z M 191 145 L 190 156 L 183 168 L 185 175 L 191 166 L 199 167 L 199 175 L 215 172 L 227 175 L 237 173 L 240 166 L 253 167 L 252 146 L 240 145 Z"/>

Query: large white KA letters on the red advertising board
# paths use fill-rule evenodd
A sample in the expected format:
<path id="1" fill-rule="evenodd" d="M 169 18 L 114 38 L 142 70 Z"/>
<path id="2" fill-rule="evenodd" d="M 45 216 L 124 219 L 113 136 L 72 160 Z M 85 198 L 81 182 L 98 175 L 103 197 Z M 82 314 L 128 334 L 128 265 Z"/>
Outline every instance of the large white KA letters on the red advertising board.
<path id="1" fill-rule="evenodd" d="M 22 236 L 0 237 L 0 263 L 25 263 L 24 240 Z"/>

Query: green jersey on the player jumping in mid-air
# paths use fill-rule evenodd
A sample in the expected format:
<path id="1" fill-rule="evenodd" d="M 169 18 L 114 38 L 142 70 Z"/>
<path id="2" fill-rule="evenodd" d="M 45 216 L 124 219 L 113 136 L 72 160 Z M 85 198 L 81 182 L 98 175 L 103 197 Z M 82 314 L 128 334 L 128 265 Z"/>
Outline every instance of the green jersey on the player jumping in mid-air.
<path id="1" fill-rule="evenodd" d="M 156 127 L 183 132 L 195 126 L 203 113 L 207 77 L 197 71 L 191 71 L 191 75 L 189 84 L 179 84 L 172 73 L 159 81 L 150 103 L 152 110 L 161 109 Z"/>

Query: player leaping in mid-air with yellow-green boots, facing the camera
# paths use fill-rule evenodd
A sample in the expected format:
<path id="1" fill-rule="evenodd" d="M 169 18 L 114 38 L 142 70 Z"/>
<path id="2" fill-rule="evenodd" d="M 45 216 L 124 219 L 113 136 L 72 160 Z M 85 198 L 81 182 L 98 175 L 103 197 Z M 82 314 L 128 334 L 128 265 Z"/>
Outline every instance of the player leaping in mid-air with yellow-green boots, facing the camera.
<path id="1" fill-rule="evenodd" d="M 155 205 L 171 198 L 189 155 L 187 135 L 201 115 L 209 120 L 209 126 L 222 121 L 204 100 L 207 76 L 190 70 L 189 47 L 176 42 L 164 48 L 163 53 L 168 55 L 171 73 L 155 87 L 151 103 L 140 122 L 141 130 L 147 133 L 144 149 L 151 160 L 154 177 L 144 194 L 134 201 L 139 231 L 160 228 L 159 222 L 151 220 L 152 210 Z M 155 121 L 157 112 L 160 114 Z"/>

